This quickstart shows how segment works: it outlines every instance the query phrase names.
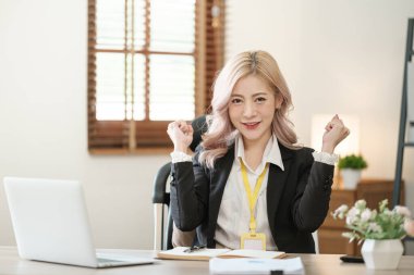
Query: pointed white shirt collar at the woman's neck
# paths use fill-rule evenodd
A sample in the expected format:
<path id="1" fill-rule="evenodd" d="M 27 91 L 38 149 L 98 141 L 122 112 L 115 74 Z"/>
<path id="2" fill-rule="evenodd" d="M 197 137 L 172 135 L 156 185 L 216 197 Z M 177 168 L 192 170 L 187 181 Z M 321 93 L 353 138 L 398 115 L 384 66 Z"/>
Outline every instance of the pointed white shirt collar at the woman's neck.
<path id="1" fill-rule="evenodd" d="M 244 158 L 244 143 L 243 143 L 243 138 L 241 135 L 239 135 L 235 138 L 234 153 L 235 153 L 235 160 L 240 164 L 239 158 L 242 158 L 242 159 Z M 265 148 L 265 153 L 263 157 L 263 161 L 278 165 L 282 171 L 284 171 L 284 166 L 283 166 L 283 162 L 282 162 L 282 155 L 280 153 L 280 148 L 279 148 L 279 143 L 278 143 L 278 138 L 275 135 L 272 135 L 269 138 L 269 141 L 267 141 L 267 145 Z"/>

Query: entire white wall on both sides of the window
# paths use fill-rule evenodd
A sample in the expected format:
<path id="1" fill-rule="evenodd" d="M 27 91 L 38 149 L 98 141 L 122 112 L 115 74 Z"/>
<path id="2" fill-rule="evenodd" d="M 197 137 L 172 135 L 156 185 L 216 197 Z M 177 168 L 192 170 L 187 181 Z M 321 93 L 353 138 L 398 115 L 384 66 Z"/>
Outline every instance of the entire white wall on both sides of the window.
<path id="1" fill-rule="evenodd" d="M 227 53 L 264 49 L 293 93 L 309 145 L 314 113 L 361 117 L 366 177 L 395 168 L 412 0 L 228 0 Z M 86 145 L 87 1 L 0 0 L 0 178 L 81 179 L 98 247 L 151 248 L 153 177 L 168 155 L 92 157 Z M 52 129 L 52 130 L 50 130 Z M 406 150 L 414 210 L 414 153 Z M 0 245 L 13 245 L 0 188 Z"/>

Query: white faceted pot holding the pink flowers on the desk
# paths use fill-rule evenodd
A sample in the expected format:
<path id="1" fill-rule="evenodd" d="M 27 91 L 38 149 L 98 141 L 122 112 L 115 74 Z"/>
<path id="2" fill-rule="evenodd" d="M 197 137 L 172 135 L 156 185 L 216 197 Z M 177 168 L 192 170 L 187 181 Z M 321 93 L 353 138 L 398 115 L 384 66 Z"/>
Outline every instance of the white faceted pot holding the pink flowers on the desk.
<path id="1" fill-rule="evenodd" d="M 370 270 L 397 270 L 404 248 L 400 239 L 366 239 L 361 249 Z"/>

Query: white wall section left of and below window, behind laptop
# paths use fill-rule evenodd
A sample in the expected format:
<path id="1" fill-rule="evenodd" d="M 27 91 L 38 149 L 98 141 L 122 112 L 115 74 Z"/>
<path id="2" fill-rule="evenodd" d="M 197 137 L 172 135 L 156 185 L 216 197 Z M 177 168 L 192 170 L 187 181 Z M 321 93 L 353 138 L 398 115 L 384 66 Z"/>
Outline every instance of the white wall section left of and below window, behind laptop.
<path id="1" fill-rule="evenodd" d="M 153 177 L 168 155 L 87 152 L 87 1 L 0 0 L 0 178 L 81 179 L 97 247 L 153 247 Z M 13 245 L 0 188 L 0 245 Z"/>

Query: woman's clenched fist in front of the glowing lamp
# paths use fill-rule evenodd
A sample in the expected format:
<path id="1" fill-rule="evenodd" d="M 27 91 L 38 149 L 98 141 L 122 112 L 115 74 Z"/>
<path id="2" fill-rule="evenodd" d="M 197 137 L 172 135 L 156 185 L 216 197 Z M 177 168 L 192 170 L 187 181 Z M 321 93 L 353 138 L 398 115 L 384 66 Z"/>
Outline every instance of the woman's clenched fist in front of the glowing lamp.
<path id="1" fill-rule="evenodd" d="M 350 135 L 350 129 L 345 127 L 338 114 L 325 127 L 322 137 L 322 152 L 333 153 L 334 148 Z"/>

